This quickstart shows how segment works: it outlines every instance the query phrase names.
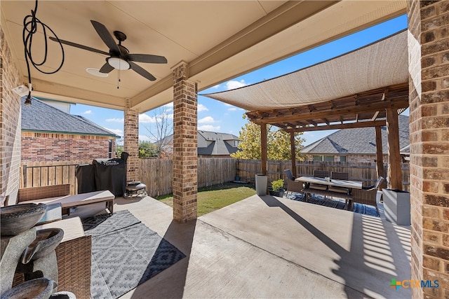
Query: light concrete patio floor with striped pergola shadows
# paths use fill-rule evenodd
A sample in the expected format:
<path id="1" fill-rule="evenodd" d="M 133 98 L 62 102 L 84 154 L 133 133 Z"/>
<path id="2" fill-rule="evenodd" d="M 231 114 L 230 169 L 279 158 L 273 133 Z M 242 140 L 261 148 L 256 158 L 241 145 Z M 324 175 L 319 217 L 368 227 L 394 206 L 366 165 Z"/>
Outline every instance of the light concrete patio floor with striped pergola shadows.
<path id="1" fill-rule="evenodd" d="M 116 199 L 186 258 L 121 298 L 410 298 L 410 227 L 253 195 L 181 224 L 151 197 Z"/>

